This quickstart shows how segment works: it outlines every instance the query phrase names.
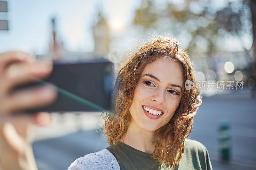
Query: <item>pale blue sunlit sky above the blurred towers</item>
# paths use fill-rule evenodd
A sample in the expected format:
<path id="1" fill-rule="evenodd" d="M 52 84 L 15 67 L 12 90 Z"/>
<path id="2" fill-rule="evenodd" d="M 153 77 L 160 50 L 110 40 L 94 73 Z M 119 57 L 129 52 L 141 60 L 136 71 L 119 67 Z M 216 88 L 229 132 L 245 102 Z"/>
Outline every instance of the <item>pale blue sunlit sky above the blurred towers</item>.
<path id="1" fill-rule="evenodd" d="M 102 9 L 111 29 L 118 31 L 131 22 L 136 0 L 8 0 L 9 30 L 0 30 L 0 53 L 20 50 L 47 53 L 51 38 L 51 18 L 56 18 L 57 36 L 68 51 L 93 51 L 92 26 Z"/>

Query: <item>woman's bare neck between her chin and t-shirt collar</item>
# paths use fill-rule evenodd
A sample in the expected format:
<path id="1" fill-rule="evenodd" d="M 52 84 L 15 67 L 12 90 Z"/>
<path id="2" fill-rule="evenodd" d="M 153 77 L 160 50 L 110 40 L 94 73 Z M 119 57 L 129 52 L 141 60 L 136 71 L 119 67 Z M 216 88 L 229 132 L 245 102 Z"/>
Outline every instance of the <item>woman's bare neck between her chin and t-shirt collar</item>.
<path id="1" fill-rule="evenodd" d="M 156 147 L 155 132 L 138 128 L 138 125 L 132 122 L 119 141 L 149 154 L 154 154 Z"/>

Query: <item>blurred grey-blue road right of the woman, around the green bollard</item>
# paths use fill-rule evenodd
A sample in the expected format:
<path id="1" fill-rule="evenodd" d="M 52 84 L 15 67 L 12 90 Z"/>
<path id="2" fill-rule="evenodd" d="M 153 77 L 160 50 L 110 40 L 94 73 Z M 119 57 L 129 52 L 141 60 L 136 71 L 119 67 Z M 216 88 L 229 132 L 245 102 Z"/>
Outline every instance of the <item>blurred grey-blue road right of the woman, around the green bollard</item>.
<path id="1" fill-rule="evenodd" d="M 189 136 L 207 148 L 213 169 L 256 169 L 256 99 L 250 90 L 203 97 Z M 231 128 L 230 164 L 220 162 L 218 125 L 228 120 Z"/>

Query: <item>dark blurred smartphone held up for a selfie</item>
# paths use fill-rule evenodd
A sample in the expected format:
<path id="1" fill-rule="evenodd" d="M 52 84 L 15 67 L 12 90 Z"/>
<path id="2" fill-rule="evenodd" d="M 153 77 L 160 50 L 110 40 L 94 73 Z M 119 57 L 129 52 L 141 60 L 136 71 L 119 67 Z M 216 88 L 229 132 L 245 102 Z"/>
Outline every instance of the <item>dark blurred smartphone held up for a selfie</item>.
<path id="1" fill-rule="evenodd" d="M 45 80 L 22 85 L 16 90 L 35 85 L 49 85 L 58 92 L 52 104 L 26 110 L 35 112 L 110 111 L 114 86 L 114 64 L 106 59 L 53 62 L 51 75 Z"/>

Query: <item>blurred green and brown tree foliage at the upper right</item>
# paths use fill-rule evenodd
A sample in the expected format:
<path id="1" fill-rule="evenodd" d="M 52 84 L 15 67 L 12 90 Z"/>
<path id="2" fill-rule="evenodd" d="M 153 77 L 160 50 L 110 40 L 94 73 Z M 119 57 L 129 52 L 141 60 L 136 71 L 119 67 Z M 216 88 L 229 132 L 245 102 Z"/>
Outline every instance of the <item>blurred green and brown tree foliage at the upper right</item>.
<path id="1" fill-rule="evenodd" d="M 223 41 L 230 37 L 239 39 L 243 46 L 244 35 L 252 36 L 251 18 L 249 0 L 144 0 L 135 11 L 133 24 L 178 39 L 185 36 L 189 54 L 206 54 L 210 69 L 216 71 L 214 52 L 225 50 Z"/>

